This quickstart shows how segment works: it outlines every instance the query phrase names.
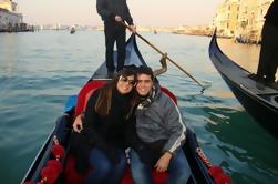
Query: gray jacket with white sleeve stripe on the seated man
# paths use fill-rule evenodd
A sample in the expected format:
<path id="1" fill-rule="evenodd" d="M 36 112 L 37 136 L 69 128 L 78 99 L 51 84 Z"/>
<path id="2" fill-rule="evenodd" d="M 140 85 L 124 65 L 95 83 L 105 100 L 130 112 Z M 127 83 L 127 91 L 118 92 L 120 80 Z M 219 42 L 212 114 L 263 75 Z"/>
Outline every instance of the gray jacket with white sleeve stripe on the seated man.
<path id="1" fill-rule="evenodd" d="M 166 140 L 163 151 L 175 153 L 185 142 L 186 127 L 175 102 L 159 86 L 155 91 L 150 106 L 136 109 L 136 132 L 146 143 Z"/>

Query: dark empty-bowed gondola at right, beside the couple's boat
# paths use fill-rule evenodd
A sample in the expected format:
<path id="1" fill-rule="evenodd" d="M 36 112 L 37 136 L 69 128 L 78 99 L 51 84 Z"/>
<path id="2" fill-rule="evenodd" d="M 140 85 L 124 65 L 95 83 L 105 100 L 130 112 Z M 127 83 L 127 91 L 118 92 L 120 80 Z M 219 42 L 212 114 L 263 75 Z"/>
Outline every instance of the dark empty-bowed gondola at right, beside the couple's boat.
<path id="1" fill-rule="evenodd" d="M 230 60 L 217 44 L 216 31 L 209 44 L 209 58 L 237 100 L 255 120 L 278 137 L 278 91 L 258 89 L 251 73 Z"/>

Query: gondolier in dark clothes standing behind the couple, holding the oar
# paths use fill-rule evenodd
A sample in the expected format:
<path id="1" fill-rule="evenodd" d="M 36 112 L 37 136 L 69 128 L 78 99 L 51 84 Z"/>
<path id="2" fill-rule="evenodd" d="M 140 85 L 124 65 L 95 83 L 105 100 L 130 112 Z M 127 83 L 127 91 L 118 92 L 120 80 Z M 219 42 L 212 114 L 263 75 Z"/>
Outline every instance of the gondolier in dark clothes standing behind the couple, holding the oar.
<path id="1" fill-rule="evenodd" d="M 135 32 L 136 29 L 133 24 L 133 19 L 126 4 L 126 0 L 97 0 L 96 10 L 104 21 L 107 76 L 112 78 L 115 71 L 113 61 L 113 49 L 115 41 L 117 48 L 116 71 L 122 70 L 124 67 L 126 28 L 123 25 L 123 22 L 126 21 L 130 24 L 132 32 Z"/>

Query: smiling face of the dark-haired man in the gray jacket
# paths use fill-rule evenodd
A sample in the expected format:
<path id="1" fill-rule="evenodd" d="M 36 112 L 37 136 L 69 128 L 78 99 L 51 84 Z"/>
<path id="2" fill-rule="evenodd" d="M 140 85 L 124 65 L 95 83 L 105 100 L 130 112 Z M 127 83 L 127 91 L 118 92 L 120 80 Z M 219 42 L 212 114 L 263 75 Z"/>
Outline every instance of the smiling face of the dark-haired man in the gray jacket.
<path id="1" fill-rule="evenodd" d="M 151 75 L 147 74 L 137 74 L 137 84 L 136 91 L 140 95 L 148 95 L 153 88 L 153 80 Z"/>

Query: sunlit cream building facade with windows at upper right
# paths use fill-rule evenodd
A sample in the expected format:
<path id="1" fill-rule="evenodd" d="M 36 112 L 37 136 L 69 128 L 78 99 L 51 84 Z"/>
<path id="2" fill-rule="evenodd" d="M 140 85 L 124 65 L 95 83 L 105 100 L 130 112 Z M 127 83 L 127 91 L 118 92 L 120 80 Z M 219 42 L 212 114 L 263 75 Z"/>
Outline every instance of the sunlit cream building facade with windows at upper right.
<path id="1" fill-rule="evenodd" d="M 212 27 L 223 37 L 259 42 L 269 6 L 274 0 L 226 0 L 217 9 Z"/>

